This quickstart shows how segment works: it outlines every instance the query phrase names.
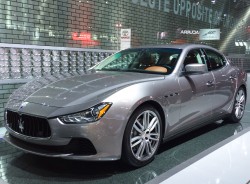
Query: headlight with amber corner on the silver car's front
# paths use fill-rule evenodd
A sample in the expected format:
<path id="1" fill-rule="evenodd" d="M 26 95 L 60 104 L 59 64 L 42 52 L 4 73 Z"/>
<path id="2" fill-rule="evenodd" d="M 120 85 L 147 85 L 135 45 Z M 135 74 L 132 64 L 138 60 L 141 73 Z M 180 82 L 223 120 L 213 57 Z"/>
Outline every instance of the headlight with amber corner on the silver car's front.
<path id="1" fill-rule="evenodd" d="M 104 116 L 104 114 L 108 111 L 111 105 L 111 103 L 101 103 L 75 114 L 60 116 L 59 119 L 65 124 L 81 124 L 95 122 Z"/>

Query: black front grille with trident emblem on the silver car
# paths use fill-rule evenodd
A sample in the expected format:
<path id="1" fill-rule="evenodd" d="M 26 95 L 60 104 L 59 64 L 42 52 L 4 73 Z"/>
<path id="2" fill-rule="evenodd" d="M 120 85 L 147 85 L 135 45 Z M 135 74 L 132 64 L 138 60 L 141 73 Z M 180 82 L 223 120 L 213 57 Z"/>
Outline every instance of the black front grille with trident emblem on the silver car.
<path id="1" fill-rule="evenodd" d="M 48 138 L 51 136 L 50 126 L 46 119 L 18 114 L 7 110 L 7 126 L 22 135 Z"/>

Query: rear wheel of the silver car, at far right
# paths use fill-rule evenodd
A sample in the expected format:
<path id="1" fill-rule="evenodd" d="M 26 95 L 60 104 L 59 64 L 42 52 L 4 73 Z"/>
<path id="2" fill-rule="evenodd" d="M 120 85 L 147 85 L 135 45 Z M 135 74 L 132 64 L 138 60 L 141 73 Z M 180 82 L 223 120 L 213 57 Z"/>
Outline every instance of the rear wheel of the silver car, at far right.
<path id="1" fill-rule="evenodd" d="M 238 123 L 244 115 L 246 105 L 246 92 L 240 87 L 235 95 L 232 113 L 226 118 L 226 121 Z"/>

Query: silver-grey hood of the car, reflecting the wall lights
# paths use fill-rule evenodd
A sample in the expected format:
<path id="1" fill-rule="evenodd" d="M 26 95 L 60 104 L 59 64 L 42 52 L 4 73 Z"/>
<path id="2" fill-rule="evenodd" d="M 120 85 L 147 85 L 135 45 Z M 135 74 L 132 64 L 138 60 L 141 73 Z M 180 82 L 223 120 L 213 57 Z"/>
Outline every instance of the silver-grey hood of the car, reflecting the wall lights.
<path id="1" fill-rule="evenodd" d="M 12 100 L 67 107 L 104 99 L 126 86 L 164 79 L 162 75 L 132 72 L 94 72 L 62 79 L 45 77 L 27 83 L 10 97 Z"/>

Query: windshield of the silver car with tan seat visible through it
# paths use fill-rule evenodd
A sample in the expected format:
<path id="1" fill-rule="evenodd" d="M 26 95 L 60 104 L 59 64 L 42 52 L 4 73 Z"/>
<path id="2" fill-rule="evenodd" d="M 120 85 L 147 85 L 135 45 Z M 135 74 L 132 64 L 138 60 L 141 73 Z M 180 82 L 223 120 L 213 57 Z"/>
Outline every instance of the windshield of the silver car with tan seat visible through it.
<path id="1" fill-rule="evenodd" d="M 133 71 L 170 74 L 174 70 L 181 49 L 127 49 L 104 59 L 95 70 Z"/>

